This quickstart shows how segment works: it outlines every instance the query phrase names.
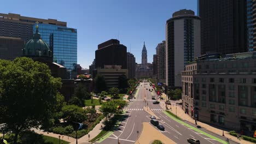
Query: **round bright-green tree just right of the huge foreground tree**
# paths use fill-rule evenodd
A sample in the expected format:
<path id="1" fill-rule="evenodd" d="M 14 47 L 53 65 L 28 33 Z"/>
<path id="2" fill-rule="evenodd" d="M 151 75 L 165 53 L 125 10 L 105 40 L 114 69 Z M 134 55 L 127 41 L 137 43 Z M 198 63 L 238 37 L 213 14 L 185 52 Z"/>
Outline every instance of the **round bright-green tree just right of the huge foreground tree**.
<path id="1" fill-rule="evenodd" d="M 84 122 L 86 119 L 85 110 L 76 105 L 66 105 L 62 107 L 63 119 L 69 123 Z"/>

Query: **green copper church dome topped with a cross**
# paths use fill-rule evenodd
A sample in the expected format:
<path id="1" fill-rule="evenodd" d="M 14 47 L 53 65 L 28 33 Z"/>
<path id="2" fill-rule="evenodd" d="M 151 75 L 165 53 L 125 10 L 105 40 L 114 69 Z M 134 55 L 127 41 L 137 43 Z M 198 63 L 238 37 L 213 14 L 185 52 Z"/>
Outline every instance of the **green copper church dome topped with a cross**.
<path id="1" fill-rule="evenodd" d="M 22 49 L 24 56 L 44 56 L 51 57 L 51 50 L 49 45 L 41 39 L 41 35 L 38 32 L 38 25 L 36 26 L 36 33 L 34 33 L 33 38 L 29 40 L 24 48 Z"/>

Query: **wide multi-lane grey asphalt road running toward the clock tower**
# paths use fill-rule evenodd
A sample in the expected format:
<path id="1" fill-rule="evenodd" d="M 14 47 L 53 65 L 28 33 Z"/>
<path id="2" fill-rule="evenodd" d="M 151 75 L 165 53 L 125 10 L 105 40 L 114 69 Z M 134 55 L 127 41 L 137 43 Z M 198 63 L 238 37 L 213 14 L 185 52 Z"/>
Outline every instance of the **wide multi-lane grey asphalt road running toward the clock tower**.
<path id="1" fill-rule="evenodd" d="M 188 143 L 188 138 L 195 138 L 197 140 L 200 140 L 201 143 L 220 143 L 219 141 L 214 140 L 207 135 L 212 135 L 217 137 L 218 139 L 225 141 L 225 138 L 222 136 L 213 134 L 205 129 L 200 130 L 206 132 L 207 135 L 201 134 L 195 130 L 197 129 L 195 125 L 187 123 L 191 125 L 191 127 L 194 127 L 188 128 L 184 124 L 174 121 L 174 119 L 168 117 L 163 112 L 164 110 L 162 109 L 160 104 L 153 104 L 154 100 L 152 100 L 152 95 L 157 95 L 155 92 L 149 92 L 147 90 L 149 88 L 153 89 L 149 86 L 149 83 L 141 83 L 137 87 L 138 93 L 136 95 L 136 99 L 131 100 L 129 106 L 125 107 L 125 120 L 121 122 L 119 128 L 116 129 L 112 135 L 110 135 L 106 140 L 102 141 L 101 143 L 118 143 L 118 138 L 120 143 L 122 144 L 135 143 L 138 138 L 137 131 L 139 131 L 139 134 L 142 131 L 142 123 L 150 122 L 149 114 L 143 111 L 143 106 L 147 105 L 148 109 L 152 110 L 155 115 L 160 118 L 160 124 L 164 125 L 165 127 L 165 131 L 159 131 L 176 143 Z M 230 141 L 230 143 L 234 142 Z"/>

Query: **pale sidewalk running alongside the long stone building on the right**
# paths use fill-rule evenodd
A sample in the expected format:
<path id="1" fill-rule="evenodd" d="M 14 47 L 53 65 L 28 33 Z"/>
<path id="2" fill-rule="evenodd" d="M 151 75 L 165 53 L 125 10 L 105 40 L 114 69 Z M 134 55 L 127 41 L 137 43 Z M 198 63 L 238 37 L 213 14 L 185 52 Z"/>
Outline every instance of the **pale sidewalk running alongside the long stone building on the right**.
<path id="1" fill-rule="evenodd" d="M 170 109 L 170 107 L 172 107 L 172 109 Z M 168 105 L 168 108 L 170 110 L 168 111 L 171 111 L 172 113 L 176 113 L 176 106 L 170 106 Z M 185 121 L 188 121 L 190 123 L 195 123 L 195 120 L 193 118 L 191 118 L 188 114 L 186 114 L 183 110 L 182 110 L 182 107 L 180 106 L 177 106 L 177 116 L 182 118 L 183 120 Z M 197 125 L 200 125 L 202 128 L 208 130 L 208 131 L 211 131 L 212 133 L 215 133 L 217 135 L 222 135 L 223 133 L 223 130 L 220 130 L 220 129 L 217 129 L 217 128 L 214 128 L 212 127 L 211 125 L 208 125 L 208 124 L 205 124 L 205 123 L 202 123 L 200 121 L 197 121 Z M 237 140 L 237 137 L 235 136 L 232 136 L 229 134 L 229 131 L 224 131 L 224 135 L 225 137 L 228 137 L 229 139 L 233 140 L 233 141 L 236 141 L 238 143 L 243 143 L 243 144 L 251 144 L 252 142 L 249 142 L 249 141 L 246 141 L 246 140 Z"/>

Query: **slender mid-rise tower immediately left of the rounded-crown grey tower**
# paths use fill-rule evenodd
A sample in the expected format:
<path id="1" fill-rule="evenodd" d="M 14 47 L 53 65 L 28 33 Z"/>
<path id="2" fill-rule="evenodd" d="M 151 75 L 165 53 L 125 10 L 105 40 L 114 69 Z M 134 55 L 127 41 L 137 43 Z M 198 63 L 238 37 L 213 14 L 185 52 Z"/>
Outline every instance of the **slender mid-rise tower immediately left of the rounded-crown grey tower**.
<path id="1" fill-rule="evenodd" d="M 158 44 L 156 47 L 156 55 L 158 56 L 158 82 L 161 83 L 166 83 L 165 79 L 165 70 L 166 70 L 166 65 L 165 65 L 165 40 L 162 41 L 162 43 Z"/>

